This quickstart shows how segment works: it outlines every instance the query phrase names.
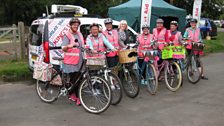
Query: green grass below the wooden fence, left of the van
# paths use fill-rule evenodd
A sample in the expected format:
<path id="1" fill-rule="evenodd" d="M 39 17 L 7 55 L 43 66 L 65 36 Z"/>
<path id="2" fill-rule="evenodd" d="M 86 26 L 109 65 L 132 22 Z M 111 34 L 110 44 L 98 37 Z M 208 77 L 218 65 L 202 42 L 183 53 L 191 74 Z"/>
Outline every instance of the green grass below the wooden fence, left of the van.
<path id="1" fill-rule="evenodd" d="M 5 81 L 19 81 L 31 79 L 32 74 L 28 63 L 24 61 L 1 61 L 0 79 Z"/>

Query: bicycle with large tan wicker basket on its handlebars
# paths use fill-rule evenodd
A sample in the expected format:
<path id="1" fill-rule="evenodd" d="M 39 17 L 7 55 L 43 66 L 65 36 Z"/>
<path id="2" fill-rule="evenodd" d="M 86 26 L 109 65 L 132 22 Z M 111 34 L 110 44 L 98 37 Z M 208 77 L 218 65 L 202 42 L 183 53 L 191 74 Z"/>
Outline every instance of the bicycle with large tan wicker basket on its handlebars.
<path id="1" fill-rule="evenodd" d="M 136 49 L 130 45 L 126 49 L 119 50 L 119 63 L 114 67 L 113 71 L 118 73 L 122 82 L 122 87 L 125 94 L 130 98 L 135 98 L 139 94 L 139 77 L 134 70 L 136 56 L 129 56 L 131 52 L 136 52 Z"/>

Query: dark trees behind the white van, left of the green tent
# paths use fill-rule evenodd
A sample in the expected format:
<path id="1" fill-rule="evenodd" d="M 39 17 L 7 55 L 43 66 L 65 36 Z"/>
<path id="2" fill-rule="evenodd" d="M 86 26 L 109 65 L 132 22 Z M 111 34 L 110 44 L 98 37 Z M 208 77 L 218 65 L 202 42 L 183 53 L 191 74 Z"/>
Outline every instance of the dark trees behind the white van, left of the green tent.
<path id="1" fill-rule="evenodd" d="M 52 4 L 80 5 L 88 9 L 90 14 L 107 16 L 108 8 L 128 0 L 0 0 L 0 25 L 11 25 L 23 21 L 30 25 L 31 21 L 46 12 L 46 5 Z"/>

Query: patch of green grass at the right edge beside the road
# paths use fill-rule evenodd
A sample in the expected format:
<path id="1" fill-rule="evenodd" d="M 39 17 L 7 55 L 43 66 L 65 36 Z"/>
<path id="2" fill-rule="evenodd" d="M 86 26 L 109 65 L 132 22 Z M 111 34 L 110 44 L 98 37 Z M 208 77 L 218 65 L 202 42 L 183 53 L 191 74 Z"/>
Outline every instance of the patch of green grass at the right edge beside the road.
<path id="1" fill-rule="evenodd" d="M 218 36 L 212 40 L 204 40 L 206 43 L 205 53 L 224 52 L 224 32 L 219 32 Z"/>

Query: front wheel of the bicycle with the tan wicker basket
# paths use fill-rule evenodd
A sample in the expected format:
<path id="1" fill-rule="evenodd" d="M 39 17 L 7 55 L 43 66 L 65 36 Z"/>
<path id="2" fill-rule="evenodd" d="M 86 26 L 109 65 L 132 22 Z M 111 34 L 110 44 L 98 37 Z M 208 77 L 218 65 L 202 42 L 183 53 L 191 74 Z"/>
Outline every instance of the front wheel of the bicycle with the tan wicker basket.
<path id="1" fill-rule="evenodd" d="M 133 69 L 124 68 L 121 74 L 123 88 L 126 95 L 135 98 L 139 94 L 139 77 Z"/>

